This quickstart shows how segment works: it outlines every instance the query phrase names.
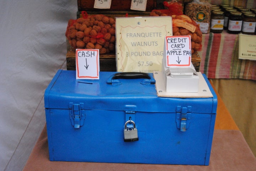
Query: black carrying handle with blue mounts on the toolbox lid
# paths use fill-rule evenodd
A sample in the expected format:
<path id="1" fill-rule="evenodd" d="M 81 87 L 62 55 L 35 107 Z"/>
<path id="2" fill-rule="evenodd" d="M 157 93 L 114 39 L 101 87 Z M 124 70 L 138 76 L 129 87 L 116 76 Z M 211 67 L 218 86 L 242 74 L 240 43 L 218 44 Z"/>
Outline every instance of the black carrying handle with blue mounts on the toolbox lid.
<path id="1" fill-rule="evenodd" d="M 145 72 L 118 72 L 113 74 L 110 78 L 108 78 L 107 84 L 112 84 L 112 81 L 116 79 L 138 79 L 138 78 L 145 78 L 145 79 L 148 79 L 150 83 L 155 83 L 155 79 Z"/>

